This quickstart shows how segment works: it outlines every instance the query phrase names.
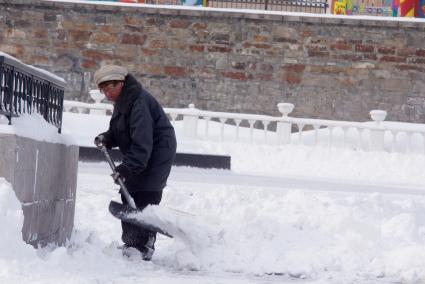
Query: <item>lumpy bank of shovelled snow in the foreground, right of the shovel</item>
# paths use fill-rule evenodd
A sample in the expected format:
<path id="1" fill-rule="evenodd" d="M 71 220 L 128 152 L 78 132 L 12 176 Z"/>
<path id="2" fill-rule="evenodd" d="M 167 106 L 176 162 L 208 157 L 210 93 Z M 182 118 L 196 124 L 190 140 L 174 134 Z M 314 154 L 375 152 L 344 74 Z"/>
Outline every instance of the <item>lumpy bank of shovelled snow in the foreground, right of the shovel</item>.
<path id="1" fill-rule="evenodd" d="M 162 261 L 173 267 L 310 279 L 425 280 L 423 197 L 207 185 L 197 190 L 187 184 L 166 193 L 164 203 L 199 212 L 200 223 L 220 232 L 215 243 L 198 249 L 178 242 L 166 248 Z M 199 231 L 185 229 L 192 236 Z M 170 250 L 185 257 L 171 257 Z"/>

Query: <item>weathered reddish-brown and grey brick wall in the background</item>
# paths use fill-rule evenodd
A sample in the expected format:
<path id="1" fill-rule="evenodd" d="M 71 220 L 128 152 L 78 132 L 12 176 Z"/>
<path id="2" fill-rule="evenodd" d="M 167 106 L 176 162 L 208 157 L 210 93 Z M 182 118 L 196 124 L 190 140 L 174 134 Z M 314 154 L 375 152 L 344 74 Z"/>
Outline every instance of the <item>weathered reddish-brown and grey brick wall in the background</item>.
<path id="1" fill-rule="evenodd" d="M 0 0 L 0 50 L 88 100 L 101 63 L 168 107 L 425 122 L 425 22 Z"/>

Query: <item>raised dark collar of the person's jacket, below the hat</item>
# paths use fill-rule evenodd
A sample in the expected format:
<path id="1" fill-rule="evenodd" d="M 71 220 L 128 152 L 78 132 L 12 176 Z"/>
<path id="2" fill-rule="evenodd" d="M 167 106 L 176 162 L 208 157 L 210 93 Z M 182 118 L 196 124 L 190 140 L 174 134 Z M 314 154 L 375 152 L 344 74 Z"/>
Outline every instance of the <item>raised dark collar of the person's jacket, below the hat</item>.
<path id="1" fill-rule="evenodd" d="M 118 111 L 123 114 L 128 114 L 133 106 L 134 101 L 141 94 L 142 90 L 142 85 L 137 82 L 133 75 L 128 74 L 125 77 L 121 94 L 115 102 L 114 112 Z"/>

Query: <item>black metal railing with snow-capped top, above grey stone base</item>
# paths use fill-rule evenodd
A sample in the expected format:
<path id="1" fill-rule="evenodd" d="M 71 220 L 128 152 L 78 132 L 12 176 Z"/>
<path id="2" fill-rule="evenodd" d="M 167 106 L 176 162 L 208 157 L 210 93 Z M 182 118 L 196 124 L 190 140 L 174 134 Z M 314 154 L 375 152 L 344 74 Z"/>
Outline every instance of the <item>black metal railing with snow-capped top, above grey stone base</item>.
<path id="1" fill-rule="evenodd" d="M 0 56 L 0 115 L 38 113 L 62 129 L 65 82 L 11 57 Z"/>

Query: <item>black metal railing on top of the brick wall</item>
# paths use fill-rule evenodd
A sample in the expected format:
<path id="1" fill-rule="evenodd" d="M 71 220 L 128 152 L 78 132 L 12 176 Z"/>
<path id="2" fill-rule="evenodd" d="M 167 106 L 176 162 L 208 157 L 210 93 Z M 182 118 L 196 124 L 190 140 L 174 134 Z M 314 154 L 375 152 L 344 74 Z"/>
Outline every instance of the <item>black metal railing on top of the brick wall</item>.
<path id="1" fill-rule="evenodd" d="M 325 14 L 327 0 L 207 0 L 208 7 Z"/>

